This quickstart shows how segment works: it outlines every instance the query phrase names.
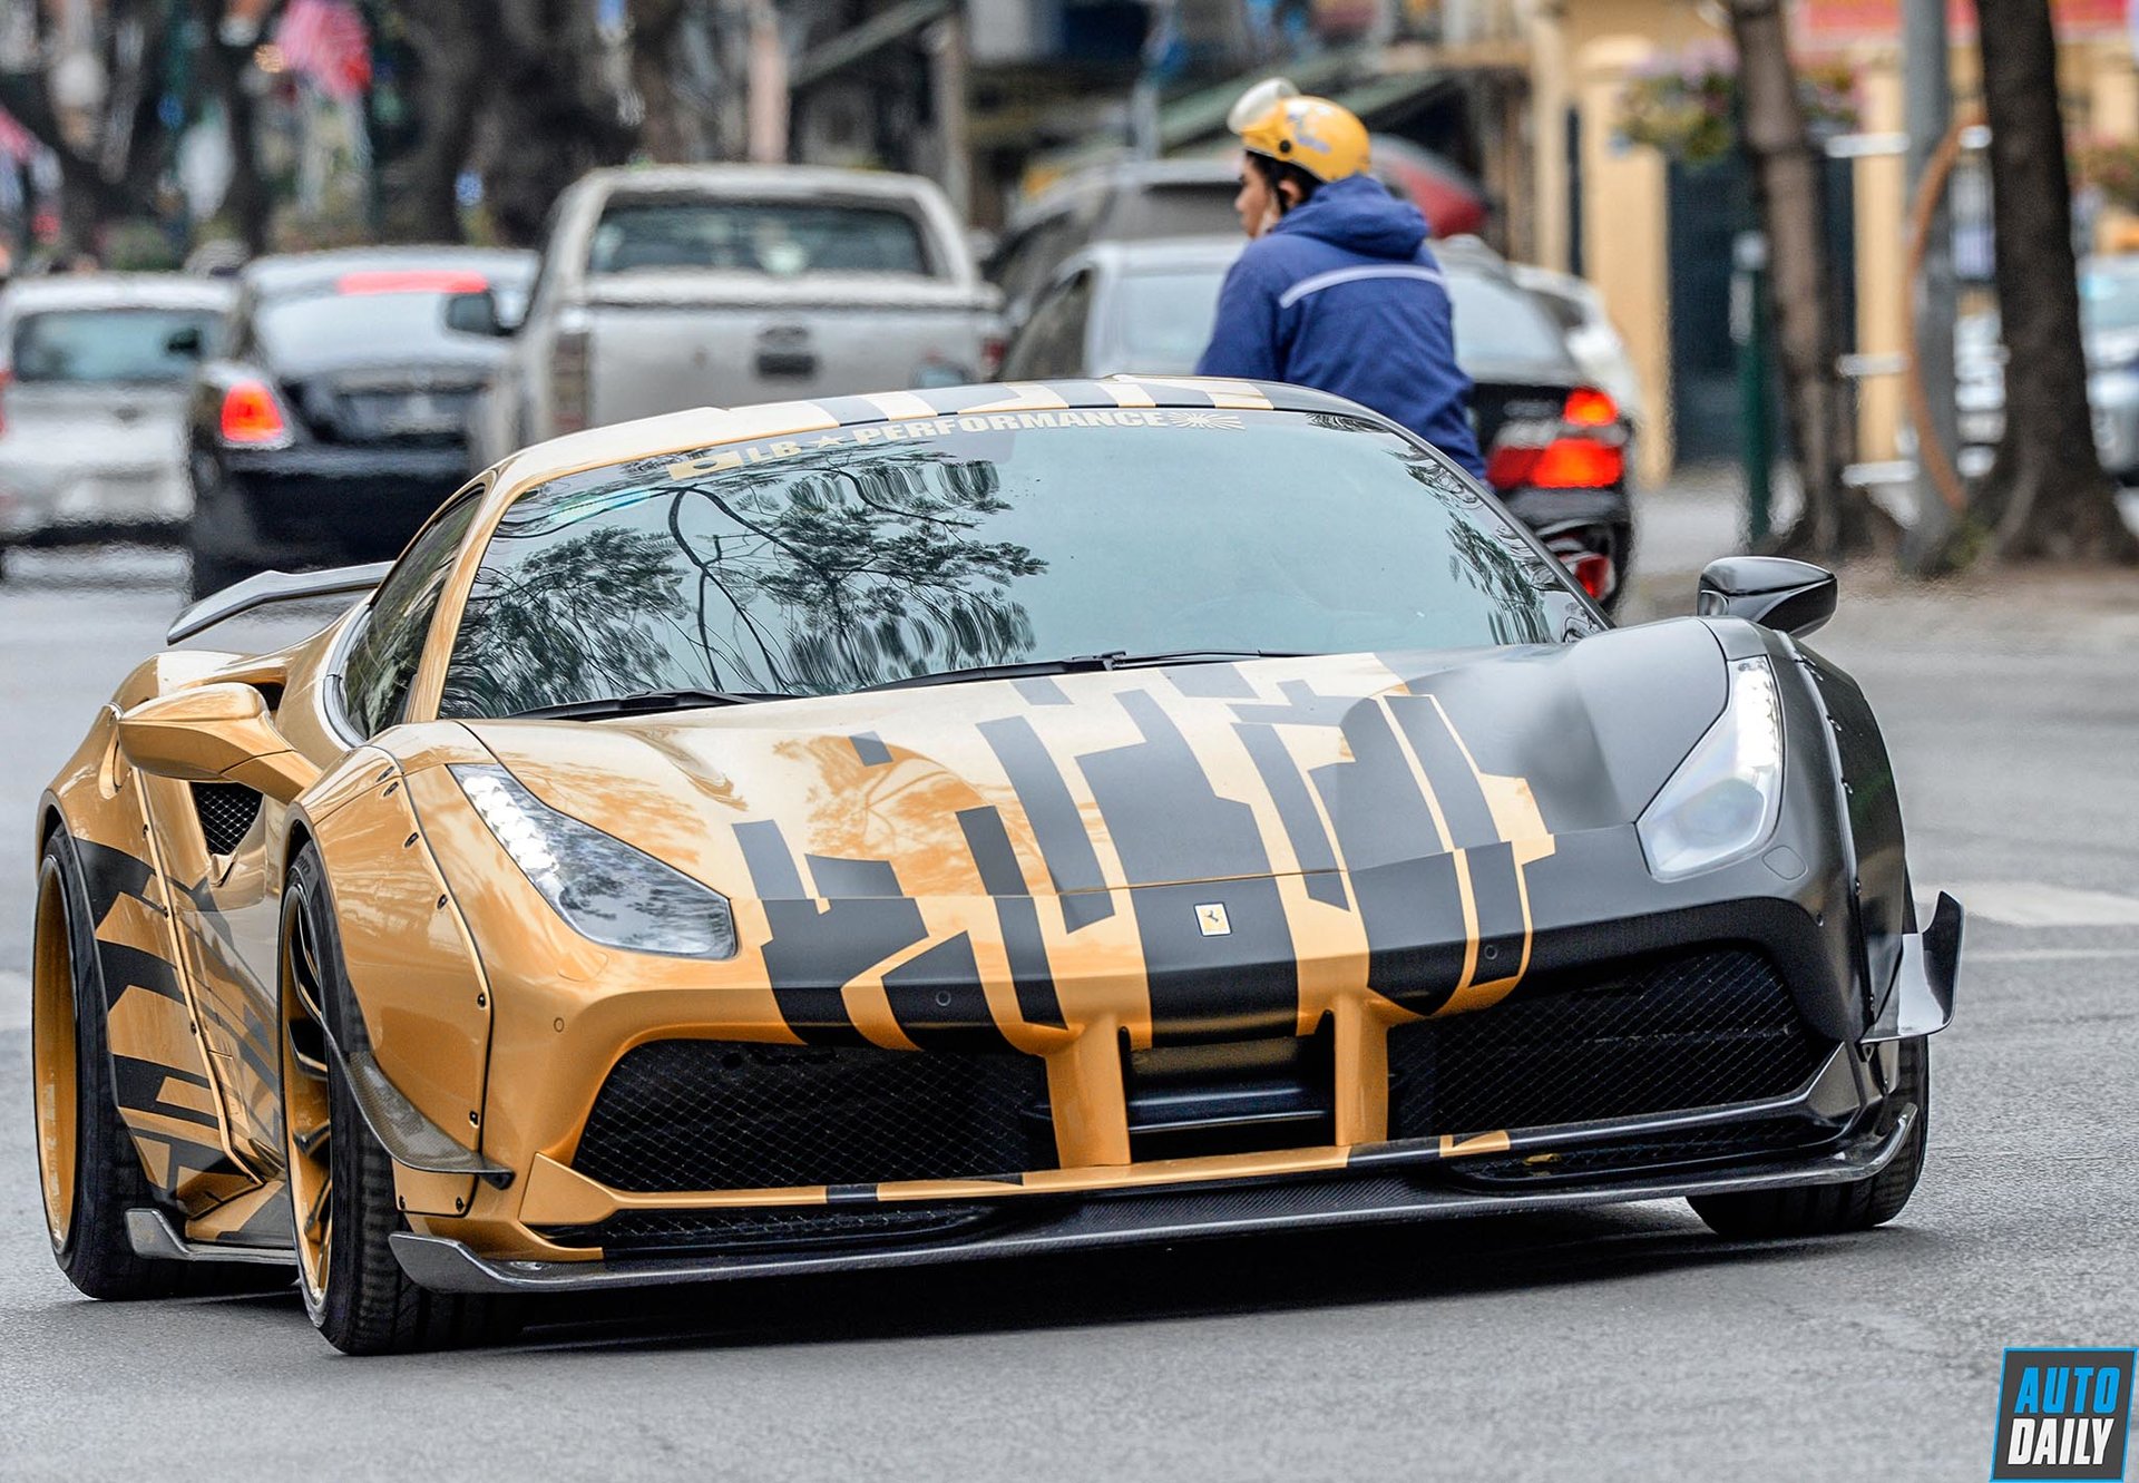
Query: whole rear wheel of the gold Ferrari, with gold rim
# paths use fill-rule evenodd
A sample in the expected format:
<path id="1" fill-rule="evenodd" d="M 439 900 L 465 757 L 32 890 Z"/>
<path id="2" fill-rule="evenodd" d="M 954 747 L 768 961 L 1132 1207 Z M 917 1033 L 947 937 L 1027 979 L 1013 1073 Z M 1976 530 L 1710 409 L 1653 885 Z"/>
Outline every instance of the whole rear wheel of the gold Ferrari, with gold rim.
<path id="1" fill-rule="evenodd" d="M 126 1239 L 126 1211 L 154 1209 L 156 1196 L 120 1119 L 90 897 L 64 828 L 51 832 L 39 860 L 32 931 L 30 1083 L 51 1254 L 90 1297 L 205 1290 L 210 1269 L 135 1256 Z"/>

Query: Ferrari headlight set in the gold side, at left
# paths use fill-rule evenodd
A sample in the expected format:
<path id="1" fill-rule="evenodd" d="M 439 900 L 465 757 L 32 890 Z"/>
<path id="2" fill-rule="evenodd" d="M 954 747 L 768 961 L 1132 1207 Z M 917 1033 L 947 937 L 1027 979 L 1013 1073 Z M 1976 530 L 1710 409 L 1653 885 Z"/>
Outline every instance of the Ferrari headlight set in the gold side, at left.
<path id="1" fill-rule="evenodd" d="M 558 813 L 501 766 L 451 773 L 505 854 L 582 937 L 678 959 L 736 954 L 736 918 L 721 892 Z"/>

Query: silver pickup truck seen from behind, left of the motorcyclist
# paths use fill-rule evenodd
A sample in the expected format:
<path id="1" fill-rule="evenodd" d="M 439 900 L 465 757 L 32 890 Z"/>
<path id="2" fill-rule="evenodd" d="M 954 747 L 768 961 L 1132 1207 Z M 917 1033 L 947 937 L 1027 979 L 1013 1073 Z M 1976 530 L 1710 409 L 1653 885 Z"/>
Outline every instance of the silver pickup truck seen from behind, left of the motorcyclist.
<path id="1" fill-rule="evenodd" d="M 958 385 L 995 370 L 1001 295 L 928 180 L 849 169 L 601 169 L 558 203 L 477 452 L 684 407 Z"/>

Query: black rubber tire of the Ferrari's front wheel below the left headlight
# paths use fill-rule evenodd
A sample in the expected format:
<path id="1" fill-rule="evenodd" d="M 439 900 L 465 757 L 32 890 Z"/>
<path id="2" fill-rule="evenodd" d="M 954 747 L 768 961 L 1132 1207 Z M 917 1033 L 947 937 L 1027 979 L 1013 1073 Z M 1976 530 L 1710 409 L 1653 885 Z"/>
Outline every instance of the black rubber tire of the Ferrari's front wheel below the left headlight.
<path id="1" fill-rule="evenodd" d="M 289 1038 L 293 1023 L 302 1034 L 302 1021 L 293 1021 L 293 1014 L 302 1016 L 306 1008 L 293 984 L 293 974 L 304 974 L 306 963 L 317 967 L 319 980 L 308 989 L 317 991 L 336 1044 L 361 1046 L 364 1025 L 349 993 L 342 942 L 327 899 L 325 869 L 314 845 L 306 845 L 291 865 L 282 901 L 282 1126 L 284 1151 L 295 1164 L 299 1156 L 295 1136 L 304 1128 L 304 1113 L 295 1109 L 297 1115 L 293 1115 L 293 1074 L 302 1072 L 291 1070 Z M 304 954 L 299 933 L 310 933 L 310 954 Z M 400 1263 L 394 1260 L 387 1237 L 409 1228 L 394 1196 L 394 1160 L 364 1126 L 364 1115 L 357 1111 L 334 1057 L 323 1059 L 329 1109 L 325 1158 L 329 1168 L 325 1233 L 329 1235 L 321 1237 L 323 1256 L 310 1263 L 304 1252 L 312 1248 L 304 1243 L 312 1226 L 306 1224 L 306 1201 L 297 1198 L 295 1168 L 291 1181 L 291 1239 L 299 1243 L 297 1290 L 304 1295 L 312 1325 L 344 1355 L 406 1355 L 509 1340 L 520 1331 L 518 1303 L 501 1297 L 428 1293 L 411 1282 Z M 319 1267 L 317 1282 L 312 1265 Z"/>

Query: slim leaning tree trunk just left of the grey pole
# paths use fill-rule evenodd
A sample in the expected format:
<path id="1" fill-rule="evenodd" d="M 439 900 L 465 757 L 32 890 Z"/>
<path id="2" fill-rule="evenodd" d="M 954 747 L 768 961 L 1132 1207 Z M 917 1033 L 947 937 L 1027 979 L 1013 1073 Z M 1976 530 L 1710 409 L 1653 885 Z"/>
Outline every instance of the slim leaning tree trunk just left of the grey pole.
<path id="1" fill-rule="evenodd" d="M 1797 96 L 1782 0 L 1730 0 L 1730 34 L 1739 53 L 1741 148 L 1767 233 L 1784 407 L 1805 490 L 1805 507 L 1782 548 L 1837 561 L 1869 550 L 1874 518 L 1869 499 L 1842 481 L 1857 426 L 1835 372 L 1840 336 L 1820 154 Z"/>

